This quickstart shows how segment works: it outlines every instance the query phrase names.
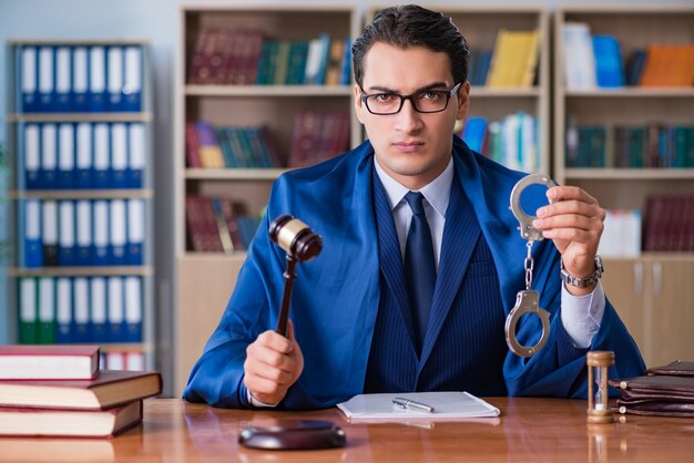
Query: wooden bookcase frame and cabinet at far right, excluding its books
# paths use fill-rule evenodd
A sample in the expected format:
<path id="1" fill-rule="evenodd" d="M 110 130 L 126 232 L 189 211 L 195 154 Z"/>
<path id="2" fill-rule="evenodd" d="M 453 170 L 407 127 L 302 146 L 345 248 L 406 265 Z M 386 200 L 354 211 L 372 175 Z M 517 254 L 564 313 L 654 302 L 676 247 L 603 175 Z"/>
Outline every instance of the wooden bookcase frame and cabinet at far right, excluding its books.
<path id="1" fill-rule="evenodd" d="M 554 16 L 554 177 L 595 196 L 608 209 L 646 213 L 649 195 L 692 194 L 694 167 L 568 166 L 567 128 L 570 121 L 599 126 L 649 124 L 694 125 L 694 88 L 570 90 L 564 84 L 568 53 L 562 31 L 567 22 L 583 22 L 591 34 L 613 35 L 625 61 L 649 44 L 694 43 L 694 7 L 572 6 Z M 634 336 L 647 366 L 687 358 L 694 350 L 686 327 L 694 322 L 687 308 L 694 297 L 693 253 L 643 253 L 633 258 L 605 259 L 608 297 Z M 619 361 L 619 359 L 618 359 Z"/>

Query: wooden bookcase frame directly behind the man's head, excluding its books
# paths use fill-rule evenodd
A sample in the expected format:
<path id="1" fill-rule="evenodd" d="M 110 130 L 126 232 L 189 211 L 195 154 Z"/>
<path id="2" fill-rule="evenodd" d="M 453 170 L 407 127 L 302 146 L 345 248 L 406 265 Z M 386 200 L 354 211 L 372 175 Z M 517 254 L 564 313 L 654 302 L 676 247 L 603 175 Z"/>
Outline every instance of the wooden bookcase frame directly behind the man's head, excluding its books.
<path id="1" fill-rule="evenodd" d="M 369 6 L 364 25 L 368 24 L 374 16 L 390 4 Z M 470 90 L 470 110 L 468 119 L 483 117 L 491 122 L 500 122 L 504 117 L 524 112 L 535 120 L 537 160 L 532 172 L 550 172 L 550 30 L 549 13 L 540 6 L 524 4 L 425 4 L 433 11 L 441 11 L 450 17 L 453 23 L 468 41 L 470 51 L 476 54 L 482 51 L 493 52 L 500 30 L 513 32 L 538 31 L 539 47 L 535 76 L 532 85 L 523 86 L 487 86 L 472 82 Z M 474 60 L 474 59 L 473 59 Z M 493 66 L 493 53 L 491 58 Z M 489 76 L 487 73 L 487 76 Z M 487 130 L 487 145 L 491 134 Z M 487 154 L 487 153 L 486 153 Z M 501 161 L 502 164 L 507 164 Z M 512 168 L 523 169 L 522 165 L 510 165 Z"/>

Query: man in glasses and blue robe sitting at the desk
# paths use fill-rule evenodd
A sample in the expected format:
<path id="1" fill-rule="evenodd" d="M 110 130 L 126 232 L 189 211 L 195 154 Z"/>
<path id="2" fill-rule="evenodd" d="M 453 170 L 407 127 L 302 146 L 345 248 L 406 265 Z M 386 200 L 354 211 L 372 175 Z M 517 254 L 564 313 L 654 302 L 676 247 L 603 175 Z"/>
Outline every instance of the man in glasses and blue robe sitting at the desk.
<path id="1" fill-rule="evenodd" d="M 369 141 L 277 179 L 186 400 L 296 410 L 361 392 L 585 397 L 591 349 L 615 352 L 612 377 L 642 373 L 598 279 L 604 212 L 576 187 L 548 189 L 555 203 L 533 224 L 548 238 L 532 257 L 549 340 L 530 359 L 508 350 L 527 253 L 508 205 L 524 174 L 453 135 L 470 102 L 468 54 L 449 19 L 416 6 L 384 10 L 356 40 L 355 110 Z M 324 238 L 298 266 L 287 338 L 272 330 L 285 254 L 267 236 L 283 214 Z M 523 317 L 518 339 L 541 332 Z"/>

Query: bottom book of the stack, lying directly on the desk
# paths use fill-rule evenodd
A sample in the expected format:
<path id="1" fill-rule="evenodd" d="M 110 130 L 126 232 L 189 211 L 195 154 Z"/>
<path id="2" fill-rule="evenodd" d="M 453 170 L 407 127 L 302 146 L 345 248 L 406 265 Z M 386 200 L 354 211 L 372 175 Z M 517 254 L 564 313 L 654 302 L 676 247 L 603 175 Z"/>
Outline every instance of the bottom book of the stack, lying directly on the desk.
<path id="1" fill-rule="evenodd" d="M 0 407 L 0 435 L 112 438 L 141 421 L 141 400 L 106 410 Z"/>

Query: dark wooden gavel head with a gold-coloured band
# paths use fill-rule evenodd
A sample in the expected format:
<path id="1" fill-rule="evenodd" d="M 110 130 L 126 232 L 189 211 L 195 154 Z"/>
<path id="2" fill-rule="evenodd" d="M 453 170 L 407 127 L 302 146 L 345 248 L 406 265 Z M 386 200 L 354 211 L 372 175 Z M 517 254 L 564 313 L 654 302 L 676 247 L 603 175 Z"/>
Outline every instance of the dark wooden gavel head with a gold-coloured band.
<path id="1" fill-rule="evenodd" d="M 269 239 L 300 263 L 313 259 L 323 249 L 323 238 L 316 235 L 308 225 L 287 214 L 274 219 L 267 233 Z"/>

